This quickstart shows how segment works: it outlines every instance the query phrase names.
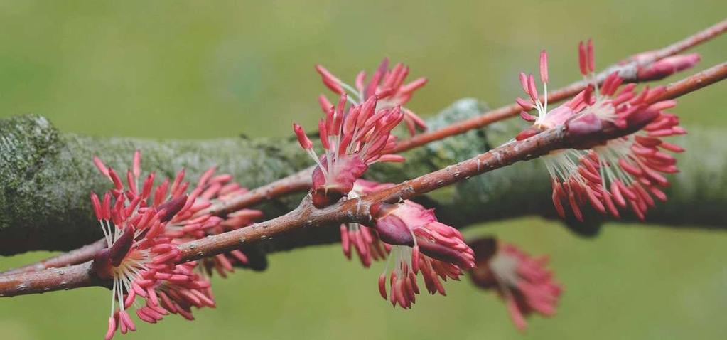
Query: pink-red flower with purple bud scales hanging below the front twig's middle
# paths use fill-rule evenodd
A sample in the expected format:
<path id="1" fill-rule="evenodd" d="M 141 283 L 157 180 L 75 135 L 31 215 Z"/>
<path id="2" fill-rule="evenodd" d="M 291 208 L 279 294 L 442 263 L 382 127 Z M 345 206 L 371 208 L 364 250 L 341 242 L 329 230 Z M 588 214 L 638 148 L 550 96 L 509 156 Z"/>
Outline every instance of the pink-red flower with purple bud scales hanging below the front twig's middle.
<path id="1" fill-rule="evenodd" d="M 440 281 L 459 280 L 462 269 L 474 266 L 474 254 L 457 229 L 439 223 L 433 210 L 404 201 L 394 205 L 380 204 L 371 208 L 374 229 L 379 239 L 391 246 L 395 264 L 389 275 L 379 276 L 379 293 L 384 299 L 402 308 L 411 308 L 419 293 L 417 274 L 422 272 L 427 290 L 445 295 Z M 389 261 L 391 261 L 389 258 Z"/>

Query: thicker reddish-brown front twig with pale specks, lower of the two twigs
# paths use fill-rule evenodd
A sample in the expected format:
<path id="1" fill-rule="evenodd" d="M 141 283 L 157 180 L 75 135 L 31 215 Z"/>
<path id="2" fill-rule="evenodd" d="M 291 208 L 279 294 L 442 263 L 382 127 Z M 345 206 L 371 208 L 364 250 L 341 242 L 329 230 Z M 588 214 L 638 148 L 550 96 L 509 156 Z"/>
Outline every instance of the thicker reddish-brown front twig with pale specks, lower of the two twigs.
<path id="1" fill-rule="evenodd" d="M 727 63 L 722 63 L 670 84 L 664 95 L 660 98 L 654 98 L 651 102 L 677 98 L 680 95 L 699 90 L 725 78 L 727 78 Z M 566 137 L 568 137 L 568 131 L 565 127 L 547 130 L 524 141 L 507 143 L 456 165 L 404 181 L 382 191 L 339 202 L 324 209 L 316 209 L 310 203 L 310 198 L 306 197 L 299 207 L 284 216 L 179 245 L 182 251 L 181 261 L 193 261 L 198 258 L 225 253 L 241 245 L 272 240 L 273 237 L 297 229 L 342 222 L 367 222 L 370 218 L 369 207 L 374 203 L 398 202 L 401 199 L 409 199 L 448 186 L 451 183 L 463 181 L 471 176 L 505 167 L 514 162 L 539 157 L 548 151 L 568 147 Z M 615 138 L 617 136 L 611 137 Z M 89 285 L 104 285 L 105 282 L 93 277 L 89 269 L 90 264 L 87 263 L 65 269 L 47 269 L 41 272 L 0 277 L 0 296 L 17 296 Z"/>

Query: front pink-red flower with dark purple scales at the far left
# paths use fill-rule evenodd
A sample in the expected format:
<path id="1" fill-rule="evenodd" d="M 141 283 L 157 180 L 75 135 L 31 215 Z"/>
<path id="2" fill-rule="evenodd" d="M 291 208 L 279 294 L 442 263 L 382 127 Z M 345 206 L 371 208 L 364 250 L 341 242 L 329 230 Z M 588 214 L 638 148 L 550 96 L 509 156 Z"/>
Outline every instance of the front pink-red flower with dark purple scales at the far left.
<path id="1" fill-rule="evenodd" d="M 116 175 L 111 169 L 110 173 Z M 105 194 L 103 201 L 96 194 L 91 196 L 108 244 L 108 248 L 94 256 L 93 269 L 99 277 L 113 282 L 107 340 L 116 330 L 121 333 L 135 331 L 126 310 L 137 297 L 145 301 L 144 307 L 137 308 L 137 315 L 142 320 L 156 323 L 167 314 L 156 299 L 158 287 L 197 281 L 186 269 L 188 264 L 175 264 L 180 258 L 179 250 L 172 244 L 172 238 L 164 235 L 165 224 L 181 211 L 186 196 L 171 199 L 158 208 L 140 207 L 138 197 L 127 203 L 124 195 L 118 195 L 112 207 L 111 196 Z"/>

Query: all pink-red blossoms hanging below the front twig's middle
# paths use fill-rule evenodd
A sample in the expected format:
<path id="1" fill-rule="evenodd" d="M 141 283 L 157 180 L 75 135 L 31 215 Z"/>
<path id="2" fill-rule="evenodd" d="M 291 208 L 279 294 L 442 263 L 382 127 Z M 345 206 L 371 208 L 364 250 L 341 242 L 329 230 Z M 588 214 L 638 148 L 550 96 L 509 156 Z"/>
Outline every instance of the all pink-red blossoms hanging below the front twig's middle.
<path id="1" fill-rule="evenodd" d="M 376 183 L 359 179 L 348 199 L 355 199 L 390 183 Z M 379 276 L 379 293 L 405 309 L 411 308 L 419 294 L 417 275 L 429 293 L 446 295 L 442 280 L 459 280 L 463 270 L 475 265 L 474 253 L 457 229 L 437 221 L 432 209 L 405 200 L 398 204 L 379 204 L 371 207 L 373 223 L 342 224 L 341 245 L 347 258 L 351 248 L 356 250 L 361 264 L 369 267 L 371 260 L 393 261 L 393 269 Z M 390 293 L 387 292 L 387 274 Z"/>

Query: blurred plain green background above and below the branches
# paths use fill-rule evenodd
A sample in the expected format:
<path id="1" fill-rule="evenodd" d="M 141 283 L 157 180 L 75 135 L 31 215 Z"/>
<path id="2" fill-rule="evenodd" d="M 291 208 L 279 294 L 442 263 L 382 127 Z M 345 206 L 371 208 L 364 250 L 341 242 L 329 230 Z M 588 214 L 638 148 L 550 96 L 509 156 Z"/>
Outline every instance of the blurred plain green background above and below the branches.
<path id="1" fill-rule="evenodd" d="M 313 127 L 313 71 L 344 79 L 384 56 L 430 84 L 410 107 L 473 96 L 513 101 L 517 72 L 550 52 L 552 86 L 576 79 L 576 45 L 598 65 L 722 20 L 725 1 L 0 1 L 0 117 L 35 113 L 66 132 L 144 138 L 289 136 Z M 723 61 L 727 38 L 696 49 Z M 725 84 L 688 95 L 686 124 L 727 127 Z M 496 296 L 451 282 L 413 310 L 380 299 L 377 276 L 336 245 L 271 256 L 262 274 L 215 279 L 219 307 L 120 339 L 727 339 L 727 234 L 611 225 L 584 240 L 526 218 L 469 229 L 551 254 L 566 285 L 558 316 L 515 331 Z M 0 258 L 0 269 L 47 253 Z M 0 300 L 0 339 L 100 339 L 101 288 Z"/>

